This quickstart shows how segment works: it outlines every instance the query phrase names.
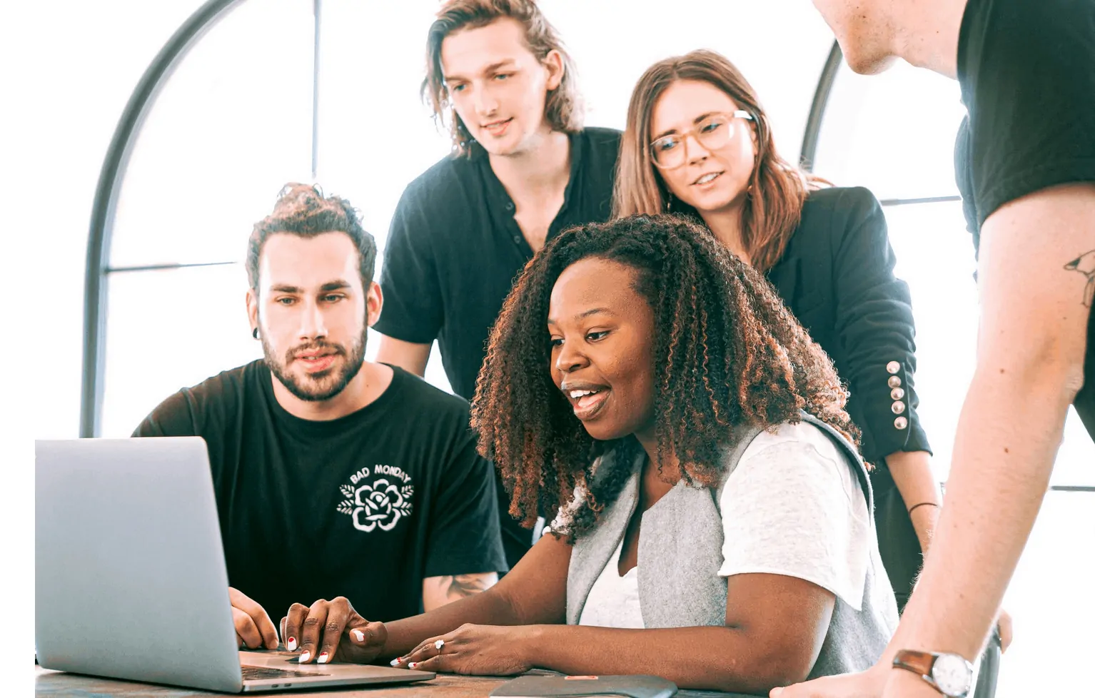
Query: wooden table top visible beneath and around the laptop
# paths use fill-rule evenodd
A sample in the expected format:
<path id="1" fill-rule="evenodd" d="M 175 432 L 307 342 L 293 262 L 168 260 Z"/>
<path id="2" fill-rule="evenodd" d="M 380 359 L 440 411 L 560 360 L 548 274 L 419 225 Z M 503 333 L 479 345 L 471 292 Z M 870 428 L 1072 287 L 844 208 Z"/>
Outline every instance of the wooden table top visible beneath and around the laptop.
<path id="1" fill-rule="evenodd" d="M 438 674 L 437 678 L 418 684 L 350 689 L 292 690 L 262 695 L 286 696 L 286 698 L 297 696 L 322 696 L 323 698 L 411 698 L 412 696 L 423 696 L 425 698 L 484 698 L 506 680 L 508 680 L 508 677 Z M 79 674 L 66 674 L 35 666 L 34 695 L 36 698 L 201 698 L 208 696 L 223 697 L 226 694 L 215 694 L 194 688 L 139 684 L 112 678 L 96 678 Z M 681 698 L 752 698 L 741 696 L 740 694 L 721 694 L 704 690 L 682 690 L 677 695 L 681 696 Z"/>

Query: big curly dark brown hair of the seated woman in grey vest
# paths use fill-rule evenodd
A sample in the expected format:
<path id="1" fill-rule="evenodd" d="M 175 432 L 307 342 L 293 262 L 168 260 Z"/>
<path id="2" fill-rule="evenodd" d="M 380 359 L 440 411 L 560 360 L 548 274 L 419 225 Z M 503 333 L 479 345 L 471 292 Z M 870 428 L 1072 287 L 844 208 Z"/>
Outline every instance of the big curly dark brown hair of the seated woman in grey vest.
<path id="1" fill-rule="evenodd" d="M 654 311 L 659 472 L 675 455 L 687 485 L 715 486 L 736 428 L 797 422 L 799 410 L 858 443 L 832 361 L 768 280 L 710 231 L 668 214 L 579 225 L 550 241 L 518 277 L 491 330 L 472 406 L 480 453 L 499 468 L 509 513 L 523 525 L 569 508 L 573 526 L 553 533 L 577 537 L 630 475 L 599 474 L 592 481 L 599 456 L 614 452 L 630 462 L 641 455 L 633 437 L 590 437 L 552 381 L 552 288 L 567 267 L 589 257 L 636 269 L 635 290 Z"/>

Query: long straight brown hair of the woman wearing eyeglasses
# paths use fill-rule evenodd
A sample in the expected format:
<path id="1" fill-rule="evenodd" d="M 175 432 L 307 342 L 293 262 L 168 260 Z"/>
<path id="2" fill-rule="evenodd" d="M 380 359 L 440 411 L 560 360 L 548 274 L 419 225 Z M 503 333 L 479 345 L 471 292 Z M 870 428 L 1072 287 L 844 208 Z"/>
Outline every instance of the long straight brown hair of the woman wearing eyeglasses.
<path id="1" fill-rule="evenodd" d="M 741 242 L 752 265 L 766 271 L 783 256 L 802 219 L 809 190 L 828 182 L 804 173 L 780 156 L 768 115 L 752 85 L 734 63 L 715 51 L 695 50 L 666 58 L 650 66 L 638 79 L 627 106 L 627 128 L 620 144 L 613 214 L 654 214 L 668 210 L 669 189 L 650 158 L 650 119 L 658 98 L 678 80 L 698 80 L 714 85 L 734 100 L 738 108 L 752 115 L 750 125 L 757 137 L 757 161 L 749 177 L 751 188 L 741 208 Z M 696 214 L 680 201 L 673 202 L 673 209 Z"/>

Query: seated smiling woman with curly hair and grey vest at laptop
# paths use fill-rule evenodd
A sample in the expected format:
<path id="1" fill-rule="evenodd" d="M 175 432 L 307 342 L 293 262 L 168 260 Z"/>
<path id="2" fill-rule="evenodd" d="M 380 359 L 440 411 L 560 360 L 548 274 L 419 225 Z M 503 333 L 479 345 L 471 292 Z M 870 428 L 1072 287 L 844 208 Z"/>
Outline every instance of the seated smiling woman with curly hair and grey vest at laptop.
<path id="1" fill-rule="evenodd" d="M 844 399 L 772 287 L 707 231 L 572 229 L 506 300 L 472 417 L 510 514 L 558 511 L 551 535 L 442 608 L 370 624 L 345 598 L 295 604 L 283 630 L 313 656 L 326 628 L 322 651 L 347 661 L 750 694 L 864 670 L 897 607 Z"/>

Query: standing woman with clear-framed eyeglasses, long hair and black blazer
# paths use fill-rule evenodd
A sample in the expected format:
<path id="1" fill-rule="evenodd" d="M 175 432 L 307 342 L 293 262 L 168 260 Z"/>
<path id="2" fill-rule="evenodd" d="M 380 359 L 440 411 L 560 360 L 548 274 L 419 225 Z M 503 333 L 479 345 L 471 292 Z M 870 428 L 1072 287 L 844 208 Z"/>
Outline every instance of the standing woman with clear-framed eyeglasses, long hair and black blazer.
<path id="1" fill-rule="evenodd" d="M 938 511 L 917 416 L 908 286 L 894 276 L 886 218 L 867 189 L 829 187 L 775 150 L 752 86 L 710 50 L 639 79 L 620 149 L 614 213 L 693 216 L 763 272 L 832 357 L 875 464 L 875 517 L 903 608 Z M 896 485 L 896 487 L 895 487 Z"/>

